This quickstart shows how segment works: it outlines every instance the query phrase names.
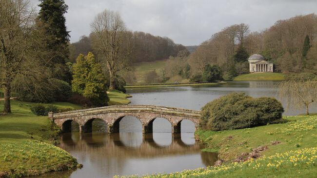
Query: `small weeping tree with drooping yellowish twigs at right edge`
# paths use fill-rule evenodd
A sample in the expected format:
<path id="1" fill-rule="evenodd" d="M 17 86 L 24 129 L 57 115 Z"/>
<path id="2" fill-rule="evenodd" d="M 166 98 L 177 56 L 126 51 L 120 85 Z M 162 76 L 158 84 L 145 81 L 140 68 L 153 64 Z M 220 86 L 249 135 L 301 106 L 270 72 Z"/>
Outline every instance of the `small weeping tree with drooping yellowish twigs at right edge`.
<path id="1" fill-rule="evenodd" d="M 278 96 L 286 99 L 287 109 L 295 107 L 297 109 L 306 108 L 306 115 L 309 115 L 309 106 L 316 103 L 317 81 L 284 81 L 278 86 Z"/>

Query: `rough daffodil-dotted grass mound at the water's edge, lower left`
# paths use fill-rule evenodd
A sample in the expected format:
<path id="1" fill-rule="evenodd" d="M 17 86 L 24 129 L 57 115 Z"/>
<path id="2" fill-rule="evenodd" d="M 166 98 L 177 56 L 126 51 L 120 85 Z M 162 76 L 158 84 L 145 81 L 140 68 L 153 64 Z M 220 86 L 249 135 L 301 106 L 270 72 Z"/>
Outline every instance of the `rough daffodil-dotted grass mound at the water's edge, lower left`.
<path id="1" fill-rule="evenodd" d="M 37 140 L 0 144 L 0 171 L 7 176 L 36 176 L 50 171 L 72 169 L 76 158 L 52 144 Z"/>

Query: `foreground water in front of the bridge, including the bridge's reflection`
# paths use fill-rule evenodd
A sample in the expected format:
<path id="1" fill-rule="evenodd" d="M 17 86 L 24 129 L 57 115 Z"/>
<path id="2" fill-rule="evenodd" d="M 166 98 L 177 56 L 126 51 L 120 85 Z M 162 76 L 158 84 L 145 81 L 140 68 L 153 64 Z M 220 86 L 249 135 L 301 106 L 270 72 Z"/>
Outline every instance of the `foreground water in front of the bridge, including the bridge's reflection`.
<path id="1" fill-rule="evenodd" d="M 202 148 L 193 133 L 64 133 L 60 147 L 83 164 L 82 169 L 40 178 L 112 178 L 115 175 L 175 172 L 213 165 L 217 154 Z"/>

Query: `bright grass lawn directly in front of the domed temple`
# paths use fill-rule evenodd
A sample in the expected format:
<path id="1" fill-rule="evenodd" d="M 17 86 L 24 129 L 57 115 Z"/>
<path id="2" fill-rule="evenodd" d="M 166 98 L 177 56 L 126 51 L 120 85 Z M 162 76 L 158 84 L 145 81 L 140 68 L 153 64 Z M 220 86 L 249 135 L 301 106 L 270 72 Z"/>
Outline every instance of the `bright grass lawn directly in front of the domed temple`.
<path id="1" fill-rule="evenodd" d="M 242 74 L 234 79 L 234 81 L 250 81 L 250 80 L 284 80 L 285 76 L 281 73 L 253 73 Z"/>

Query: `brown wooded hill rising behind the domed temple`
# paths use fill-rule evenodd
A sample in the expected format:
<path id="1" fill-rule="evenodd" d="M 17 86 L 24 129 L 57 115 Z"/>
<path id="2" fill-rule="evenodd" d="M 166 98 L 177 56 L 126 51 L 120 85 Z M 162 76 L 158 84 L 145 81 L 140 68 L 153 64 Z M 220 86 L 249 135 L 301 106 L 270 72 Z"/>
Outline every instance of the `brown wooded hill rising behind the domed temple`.
<path id="1" fill-rule="evenodd" d="M 316 35 L 315 14 L 278 20 L 261 32 L 250 32 L 247 24 L 235 24 L 202 42 L 190 55 L 188 62 L 195 70 L 192 71 L 194 73 L 201 72 L 209 63 L 218 64 L 223 75 L 248 73 L 247 59 L 238 59 L 241 57 L 237 54 L 239 52 L 244 56 L 260 54 L 273 61 L 275 72 L 316 72 Z"/>

